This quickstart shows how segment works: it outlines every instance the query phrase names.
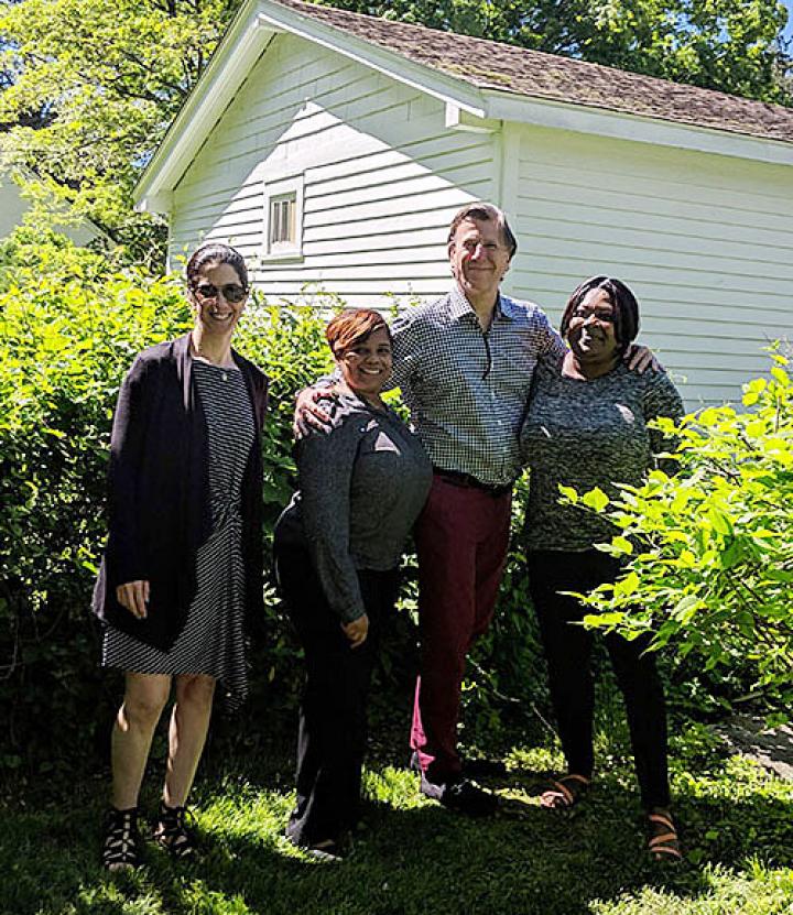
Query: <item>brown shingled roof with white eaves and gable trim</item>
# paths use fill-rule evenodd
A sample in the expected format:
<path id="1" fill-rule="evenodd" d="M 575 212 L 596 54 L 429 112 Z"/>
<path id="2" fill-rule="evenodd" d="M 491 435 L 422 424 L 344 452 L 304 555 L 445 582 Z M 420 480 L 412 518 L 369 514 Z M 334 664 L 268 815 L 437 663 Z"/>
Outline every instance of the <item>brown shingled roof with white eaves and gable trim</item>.
<path id="1" fill-rule="evenodd" d="M 145 168 L 140 208 L 170 210 L 193 156 L 281 32 L 441 98 L 449 124 L 463 111 L 482 124 L 525 121 L 793 164 L 793 109 L 782 106 L 303 0 L 246 0 Z"/>

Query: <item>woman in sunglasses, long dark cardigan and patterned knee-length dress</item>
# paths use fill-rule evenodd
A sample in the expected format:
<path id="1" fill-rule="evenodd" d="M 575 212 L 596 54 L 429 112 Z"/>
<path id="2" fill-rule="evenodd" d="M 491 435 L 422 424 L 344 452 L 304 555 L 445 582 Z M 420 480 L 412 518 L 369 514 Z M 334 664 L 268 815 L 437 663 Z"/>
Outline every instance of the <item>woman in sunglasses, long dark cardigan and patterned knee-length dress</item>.
<path id="1" fill-rule="evenodd" d="M 195 852 L 185 804 L 215 685 L 247 693 L 243 618 L 262 602 L 261 428 L 267 378 L 231 349 L 248 297 L 242 257 L 199 248 L 186 269 L 193 329 L 134 360 L 110 443 L 109 536 L 94 593 L 102 664 L 124 672 L 111 739 L 112 805 L 102 861 L 141 862 L 138 795 L 174 689 L 154 840 Z"/>

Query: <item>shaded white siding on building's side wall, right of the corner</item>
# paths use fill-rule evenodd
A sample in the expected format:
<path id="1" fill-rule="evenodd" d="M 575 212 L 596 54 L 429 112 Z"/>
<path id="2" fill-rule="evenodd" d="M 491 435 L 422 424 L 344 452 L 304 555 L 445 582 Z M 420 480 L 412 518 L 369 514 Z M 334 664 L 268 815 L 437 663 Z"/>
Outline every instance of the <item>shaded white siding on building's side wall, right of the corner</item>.
<path id="1" fill-rule="evenodd" d="M 624 280 L 691 406 L 738 400 L 793 339 L 793 170 L 524 128 L 510 209 L 508 288 L 557 320 L 584 277 Z"/>

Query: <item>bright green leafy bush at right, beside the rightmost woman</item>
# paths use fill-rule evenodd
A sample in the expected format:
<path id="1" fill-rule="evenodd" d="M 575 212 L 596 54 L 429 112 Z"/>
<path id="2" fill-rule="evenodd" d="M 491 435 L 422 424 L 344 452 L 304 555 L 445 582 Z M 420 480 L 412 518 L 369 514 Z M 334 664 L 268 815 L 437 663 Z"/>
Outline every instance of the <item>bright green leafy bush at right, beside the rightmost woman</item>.
<path id="1" fill-rule="evenodd" d="M 622 488 L 608 508 L 621 530 L 608 548 L 626 560 L 613 586 L 587 602 L 587 622 L 628 638 L 651 631 L 704 662 L 705 669 L 743 669 L 757 694 L 793 707 L 793 381 L 787 359 L 773 356 L 769 379 L 745 386 L 743 404 L 708 407 L 684 418 L 680 471 L 656 470 Z M 596 511 L 594 490 L 565 495 Z"/>

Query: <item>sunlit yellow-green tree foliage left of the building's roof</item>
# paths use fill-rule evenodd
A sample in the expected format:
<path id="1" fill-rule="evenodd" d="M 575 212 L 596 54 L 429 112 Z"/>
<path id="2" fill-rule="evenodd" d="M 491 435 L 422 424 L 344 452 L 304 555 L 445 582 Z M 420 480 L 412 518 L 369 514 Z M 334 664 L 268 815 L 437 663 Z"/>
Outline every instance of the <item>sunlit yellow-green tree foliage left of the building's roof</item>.
<path id="1" fill-rule="evenodd" d="M 3 3 L 2 151 L 55 178 L 140 253 L 132 213 L 142 165 L 202 74 L 238 0 L 19 0 Z M 31 123 L 33 121 L 33 123 Z"/>

